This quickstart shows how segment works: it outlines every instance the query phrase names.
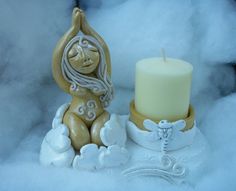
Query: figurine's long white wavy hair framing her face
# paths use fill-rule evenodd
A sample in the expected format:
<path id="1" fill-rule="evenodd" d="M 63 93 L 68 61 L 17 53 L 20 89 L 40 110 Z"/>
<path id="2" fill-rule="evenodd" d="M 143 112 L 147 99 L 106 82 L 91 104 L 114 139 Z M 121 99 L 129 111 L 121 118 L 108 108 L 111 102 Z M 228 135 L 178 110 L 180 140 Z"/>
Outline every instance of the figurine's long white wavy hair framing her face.
<path id="1" fill-rule="evenodd" d="M 98 68 L 96 70 L 97 78 L 86 76 L 84 74 L 79 73 L 75 70 L 68 61 L 67 55 L 70 48 L 74 45 L 74 43 L 79 43 L 79 46 L 87 47 L 88 43 L 95 45 L 98 48 L 100 61 Z M 75 36 L 65 47 L 62 62 L 61 62 L 62 74 L 68 82 L 70 82 L 74 86 L 80 86 L 83 88 L 87 88 L 91 90 L 93 93 L 101 94 L 100 100 L 103 107 L 107 107 L 110 104 L 110 101 L 113 98 L 113 85 L 110 76 L 107 72 L 107 63 L 105 59 L 105 53 L 101 45 L 98 41 L 86 35 Z"/>

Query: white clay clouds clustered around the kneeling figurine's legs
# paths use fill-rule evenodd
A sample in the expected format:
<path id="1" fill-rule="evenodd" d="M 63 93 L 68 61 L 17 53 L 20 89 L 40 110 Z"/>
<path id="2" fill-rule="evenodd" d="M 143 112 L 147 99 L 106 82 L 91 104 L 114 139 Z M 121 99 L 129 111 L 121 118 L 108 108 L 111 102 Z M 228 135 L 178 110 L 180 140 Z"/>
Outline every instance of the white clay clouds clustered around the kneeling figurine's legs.
<path id="1" fill-rule="evenodd" d="M 126 130 L 121 124 L 118 115 L 112 114 L 108 122 L 101 129 L 101 139 L 105 146 L 87 144 L 80 149 L 80 154 L 75 155 L 69 138 L 69 130 L 62 123 L 64 112 L 69 104 L 58 108 L 53 119 L 52 129 L 46 134 L 40 151 L 40 163 L 73 168 L 96 170 L 115 167 L 125 164 L 129 153 L 125 148 Z"/>

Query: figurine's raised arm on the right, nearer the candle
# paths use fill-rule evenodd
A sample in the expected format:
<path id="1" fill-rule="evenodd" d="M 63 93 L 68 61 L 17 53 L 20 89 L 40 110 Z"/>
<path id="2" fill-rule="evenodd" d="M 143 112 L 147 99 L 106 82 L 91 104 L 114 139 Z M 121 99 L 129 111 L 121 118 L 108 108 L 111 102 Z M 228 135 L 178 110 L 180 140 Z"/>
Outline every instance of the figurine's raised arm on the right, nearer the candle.
<path id="1" fill-rule="evenodd" d="M 107 63 L 107 72 L 111 76 L 111 58 L 107 44 L 102 39 L 102 37 L 88 24 L 87 19 L 85 18 L 84 12 L 81 12 L 81 30 L 84 34 L 90 35 L 97 39 L 99 44 L 103 47 L 105 53 L 105 59 Z"/>

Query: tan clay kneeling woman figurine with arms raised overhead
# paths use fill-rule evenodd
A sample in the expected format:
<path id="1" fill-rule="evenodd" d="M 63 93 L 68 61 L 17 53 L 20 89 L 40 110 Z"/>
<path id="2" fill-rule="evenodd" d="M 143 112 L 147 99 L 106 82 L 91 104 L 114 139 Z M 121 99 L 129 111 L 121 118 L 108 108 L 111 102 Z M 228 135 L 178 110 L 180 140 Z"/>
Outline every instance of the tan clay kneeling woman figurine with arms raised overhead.
<path id="1" fill-rule="evenodd" d="M 52 71 L 58 86 L 72 96 L 63 123 L 74 149 L 102 145 L 100 130 L 110 118 L 105 108 L 113 98 L 110 54 L 79 8 L 73 10 L 72 26 L 56 45 Z"/>

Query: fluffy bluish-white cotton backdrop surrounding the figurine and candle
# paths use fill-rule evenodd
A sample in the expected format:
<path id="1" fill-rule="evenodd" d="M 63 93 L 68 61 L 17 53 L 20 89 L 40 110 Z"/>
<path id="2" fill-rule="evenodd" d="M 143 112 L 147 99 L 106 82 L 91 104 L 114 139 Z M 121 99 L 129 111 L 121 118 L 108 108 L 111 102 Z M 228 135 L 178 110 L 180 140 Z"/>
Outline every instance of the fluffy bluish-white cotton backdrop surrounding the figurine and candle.
<path id="1" fill-rule="evenodd" d="M 236 2 L 233 0 L 83 0 L 106 39 L 116 97 L 110 111 L 128 113 L 134 66 L 141 58 L 178 57 L 194 65 L 192 103 L 212 153 L 192 185 L 124 179 L 39 165 L 40 144 L 69 97 L 51 75 L 51 56 L 71 21 L 74 2 L 0 1 L 0 190 L 229 190 L 236 188 Z M 144 14 L 145 12 L 145 14 Z"/>

